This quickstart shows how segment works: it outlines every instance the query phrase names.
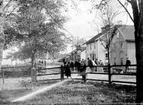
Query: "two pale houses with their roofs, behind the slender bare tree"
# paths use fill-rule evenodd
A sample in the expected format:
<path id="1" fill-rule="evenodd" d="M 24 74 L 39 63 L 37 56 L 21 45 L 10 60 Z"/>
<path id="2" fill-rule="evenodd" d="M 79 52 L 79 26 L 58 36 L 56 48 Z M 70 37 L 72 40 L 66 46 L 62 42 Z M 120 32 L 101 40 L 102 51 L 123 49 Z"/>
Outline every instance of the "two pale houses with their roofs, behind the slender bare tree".
<path id="1" fill-rule="evenodd" d="M 109 47 L 110 63 L 125 64 L 126 59 L 129 58 L 131 64 L 136 64 L 134 27 L 131 25 L 118 25 L 116 27 L 116 33 Z M 103 63 L 108 61 L 105 48 L 113 29 L 114 27 L 103 27 L 101 33 L 86 42 L 86 58 L 102 60 Z"/>

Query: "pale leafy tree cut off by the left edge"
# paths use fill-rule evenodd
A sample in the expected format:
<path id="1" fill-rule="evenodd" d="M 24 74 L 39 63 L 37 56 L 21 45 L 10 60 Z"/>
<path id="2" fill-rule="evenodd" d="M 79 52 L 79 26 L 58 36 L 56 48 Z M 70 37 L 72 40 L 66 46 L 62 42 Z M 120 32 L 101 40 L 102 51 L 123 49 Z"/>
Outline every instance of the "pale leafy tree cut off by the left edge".
<path id="1" fill-rule="evenodd" d="M 3 49 L 6 48 L 7 44 L 9 44 L 13 39 L 13 36 L 5 35 L 4 32 L 5 26 L 11 24 L 12 20 L 14 20 L 12 12 L 17 8 L 15 3 L 10 5 L 11 1 L 12 0 L 8 1 L 6 5 L 4 5 L 4 0 L 0 0 L 0 69 L 3 59 Z"/>

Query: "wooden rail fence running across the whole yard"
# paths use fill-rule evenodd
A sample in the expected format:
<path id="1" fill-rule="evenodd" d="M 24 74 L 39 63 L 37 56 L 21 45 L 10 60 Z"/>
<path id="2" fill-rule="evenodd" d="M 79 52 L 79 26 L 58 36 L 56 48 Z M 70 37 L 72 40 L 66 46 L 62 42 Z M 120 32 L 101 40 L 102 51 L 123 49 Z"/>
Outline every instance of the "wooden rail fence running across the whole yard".
<path id="1" fill-rule="evenodd" d="M 120 79 L 113 80 L 112 79 L 113 76 L 128 76 L 129 78 L 133 77 L 134 79 L 136 79 L 136 65 L 130 65 L 129 70 L 126 73 L 124 72 L 125 67 L 126 67 L 126 65 L 94 66 L 93 72 L 87 72 L 87 74 L 88 74 L 87 80 L 105 81 L 105 82 L 109 82 L 110 84 L 111 83 L 136 84 L 136 80 L 128 81 L 127 79 L 123 79 L 123 80 L 120 80 Z M 19 68 L 21 68 L 21 69 L 19 69 Z M 16 71 L 19 71 L 19 72 L 22 72 L 20 76 L 28 76 L 28 77 L 31 76 L 30 67 L 26 67 L 26 66 L 3 67 L 2 71 L 1 71 L 1 77 L 3 77 L 3 79 L 4 79 L 4 77 L 7 78 L 8 71 L 9 71 L 9 73 L 12 73 L 12 72 L 16 73 Z M 26 73 L 26 72 L 28 72 L 28 73 Z M 45 78 L 43 78 L 43 80 L 50 76 L 51 76 L 51 78 L 47 78 L 47 80 L 48 79 L 57 79 L 57 80 L 64 79 L 64 72 L 62 71 L 61 67 L 40 68 L 40 69 L 36 70 L 36 73 L 37 73 L 37 75 L 36 75 L 37 78 L 45 77 Z M 77 76 L 77 75 L 78 75 L 77 71 L 72 71 L 73 79 L 81 79 L 81 76 Z M 98 77 L 106 76 L 107 79 L 100 79 L 100 78 L 98 79 L 98 78 L 96 78 L 96 76 L 98 76 Z"/>

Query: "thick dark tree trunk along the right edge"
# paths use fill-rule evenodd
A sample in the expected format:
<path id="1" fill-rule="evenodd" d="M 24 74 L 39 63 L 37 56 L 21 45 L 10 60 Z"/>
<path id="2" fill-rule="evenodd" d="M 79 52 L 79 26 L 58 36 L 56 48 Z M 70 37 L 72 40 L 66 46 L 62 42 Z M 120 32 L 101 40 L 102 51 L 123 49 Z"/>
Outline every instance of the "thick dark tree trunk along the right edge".
<path id="1" fill-rule="evenodd" d="M 143 17 L 142 19 L 143 20 Z M 138 29 L 139 33 L 136 35 L 136 59 L 137 59 L 137 97 L 136 102 L 143 102 L 143 21 L 141 27 Z M 138 35 L 139 34 L 139 35 Z"/>

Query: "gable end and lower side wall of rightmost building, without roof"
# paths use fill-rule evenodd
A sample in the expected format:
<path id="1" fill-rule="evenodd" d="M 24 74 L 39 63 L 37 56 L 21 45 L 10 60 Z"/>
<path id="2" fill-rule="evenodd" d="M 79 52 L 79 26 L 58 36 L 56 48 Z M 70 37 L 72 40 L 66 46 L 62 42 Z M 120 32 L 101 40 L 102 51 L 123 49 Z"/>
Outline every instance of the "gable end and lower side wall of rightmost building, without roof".
<path id="1" fill-rule="evenodd" d="M 125 36 L 117 33 L 110 47 L 110 63 L 116 65 L 125 65 L 129 58 L 132 64 L 136 64 L 135 42 L 127 42 Z"/>

